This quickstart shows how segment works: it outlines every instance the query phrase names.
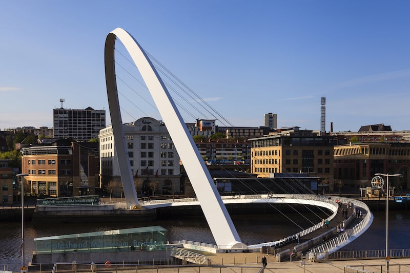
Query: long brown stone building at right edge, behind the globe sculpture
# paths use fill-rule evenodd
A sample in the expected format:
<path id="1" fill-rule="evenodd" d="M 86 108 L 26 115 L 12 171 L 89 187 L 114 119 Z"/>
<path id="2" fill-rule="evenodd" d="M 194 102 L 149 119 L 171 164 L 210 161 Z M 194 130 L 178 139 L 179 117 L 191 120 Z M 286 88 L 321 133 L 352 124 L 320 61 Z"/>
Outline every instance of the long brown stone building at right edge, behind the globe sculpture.
<path id="1" fill-rule="evenodd" d="M 359 190 L 371 186 L 376 173 L 401 174 L 391 177 L 395 191 L 410 188 L 410 143 L 351 143 L 334 146 L 335 181 Z"/>

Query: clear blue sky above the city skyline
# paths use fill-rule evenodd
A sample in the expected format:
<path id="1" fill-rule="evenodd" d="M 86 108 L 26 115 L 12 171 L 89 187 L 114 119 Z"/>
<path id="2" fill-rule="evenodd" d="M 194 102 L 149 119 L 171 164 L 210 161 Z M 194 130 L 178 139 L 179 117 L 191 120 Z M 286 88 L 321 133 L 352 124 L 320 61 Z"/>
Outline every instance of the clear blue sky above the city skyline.
<path id="1" fill-rule="evenodd" d="M 324 96 L 326 131 L 410 130 L 409 1 L 0 4 L 0 130 L 53 127 L 60 98 L 107 110 L 109 124 L 104 43 L 117 27 L 235 126 L 263 126 L 271 112 L 278 128 L 320 130 Z"/>

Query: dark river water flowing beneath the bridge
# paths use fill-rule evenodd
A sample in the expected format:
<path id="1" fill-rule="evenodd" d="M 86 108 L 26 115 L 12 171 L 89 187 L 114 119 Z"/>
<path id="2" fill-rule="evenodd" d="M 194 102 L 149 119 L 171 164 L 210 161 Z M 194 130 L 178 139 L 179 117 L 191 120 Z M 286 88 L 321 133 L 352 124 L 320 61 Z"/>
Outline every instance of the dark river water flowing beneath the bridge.
<path id="1" fill-rule="evenodd" d="M 323 215 L 304 214 L 304 217 L 315 224 L 320 222 Z M 241 241 L 251 245 L 262 242 L 270 242 L 295 234 L 300 228 L 307 228 L 309 223 L 299 214 L 269 215 L 235 215 L 232 220 L 236 226 Z M 372 226 L 358 239 L 345 246 L 342 250 L 370 250 L 385 249 L 386 236 L 385 212 L 375 212 Z M 135 223 L 71 223 L 71 224 L 33 224 L 26 222 L 25 226 L 25 263 L 31 261 L 35 250 L 34 238 L 56 235 L 76 234 L 85 232 L 98 232 L 111 229 L 132 227 L 144 227 L 160 225 L 168 229 L 167 239 L 189 240 L 202 243 L 215 244 L 211 231 L 205 219 L 178 218 L 172 220 L 158 220 Z M 410 248 L 410 212 L 389 212 L 389 248 Z M 6 270 L 19 271 L 21 266 L 20 256 L 21 223 L 0 223 L 0 270 L 5 266 Z"/>

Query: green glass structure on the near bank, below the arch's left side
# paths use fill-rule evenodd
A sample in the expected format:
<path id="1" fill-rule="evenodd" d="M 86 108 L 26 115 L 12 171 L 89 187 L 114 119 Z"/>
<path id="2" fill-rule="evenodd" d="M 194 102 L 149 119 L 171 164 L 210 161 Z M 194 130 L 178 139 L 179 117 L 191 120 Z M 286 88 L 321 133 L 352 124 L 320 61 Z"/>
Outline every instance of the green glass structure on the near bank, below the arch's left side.
<path id="1" fill-rule="evenodd" d="M 35 254 L 164 250 L 166 235 L 167 229 L 148 226 L 34 238 Z"/>

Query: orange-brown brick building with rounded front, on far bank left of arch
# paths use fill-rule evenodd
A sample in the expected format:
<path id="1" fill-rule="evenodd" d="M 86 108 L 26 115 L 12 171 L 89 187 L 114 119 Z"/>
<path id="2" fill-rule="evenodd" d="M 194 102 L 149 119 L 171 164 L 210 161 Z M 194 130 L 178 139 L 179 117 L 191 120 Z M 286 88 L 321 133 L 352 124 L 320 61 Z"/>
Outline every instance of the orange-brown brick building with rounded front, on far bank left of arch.
<path id="1" fill-rule="evenodd" d="M 38 196 L 93 195 L 99 187 L 98 143 L 60 139 L 22 147 L 22 173 Z"/>

